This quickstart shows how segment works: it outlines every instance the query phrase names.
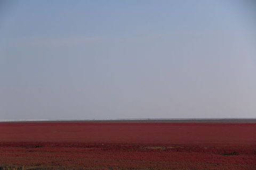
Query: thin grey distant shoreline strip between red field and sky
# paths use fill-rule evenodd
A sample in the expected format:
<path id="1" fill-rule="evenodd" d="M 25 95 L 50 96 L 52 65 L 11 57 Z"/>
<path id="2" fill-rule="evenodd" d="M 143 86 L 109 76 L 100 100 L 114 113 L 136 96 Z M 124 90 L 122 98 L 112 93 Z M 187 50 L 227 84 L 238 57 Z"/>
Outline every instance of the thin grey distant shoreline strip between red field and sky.
<path id="1" fill-rule="evenodd" d="M 256 123 L 256 118 L 174 118 L 109 120 L 0 120 L 0 123 Z"/>

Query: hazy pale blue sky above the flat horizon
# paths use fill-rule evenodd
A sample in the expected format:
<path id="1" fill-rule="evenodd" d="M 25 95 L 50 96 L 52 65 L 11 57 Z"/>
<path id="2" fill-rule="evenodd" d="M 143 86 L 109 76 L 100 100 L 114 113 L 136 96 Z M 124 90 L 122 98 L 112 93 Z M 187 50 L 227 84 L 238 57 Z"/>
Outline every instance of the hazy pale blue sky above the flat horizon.
<path id="1" fill-rule="evenodd" d="M 256 2 L 1 1 L 0 120 L 256 118 Z"/>

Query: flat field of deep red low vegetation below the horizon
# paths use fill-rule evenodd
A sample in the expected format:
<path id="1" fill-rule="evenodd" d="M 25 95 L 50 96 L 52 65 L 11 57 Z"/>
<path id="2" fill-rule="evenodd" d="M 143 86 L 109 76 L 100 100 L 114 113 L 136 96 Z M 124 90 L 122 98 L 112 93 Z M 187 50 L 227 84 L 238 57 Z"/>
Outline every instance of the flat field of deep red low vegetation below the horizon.
<path id="1" fill-rule="evenodd" d="M 256 169 L 256 123 L 0 123 L 0 169 Z"/>

